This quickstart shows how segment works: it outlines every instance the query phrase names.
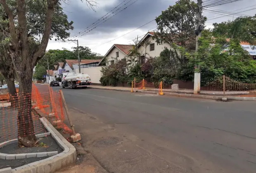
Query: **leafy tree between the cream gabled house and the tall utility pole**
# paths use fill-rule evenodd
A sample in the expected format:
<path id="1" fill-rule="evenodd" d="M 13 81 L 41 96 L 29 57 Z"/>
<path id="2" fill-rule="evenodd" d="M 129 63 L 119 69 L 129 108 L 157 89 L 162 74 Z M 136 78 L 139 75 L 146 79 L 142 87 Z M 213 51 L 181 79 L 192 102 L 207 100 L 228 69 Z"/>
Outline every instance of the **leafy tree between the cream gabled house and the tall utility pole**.
<path id="1" fill-rule="evenodd" d="M 181 63 L 185 63 L 184 56 L 180 56 L 176 45 L 180 45 L 189 50 L 195 49 L 197 29 L 197 17 L 194 12 L 198 5 L 192 0 L 179 0 L 175 5 L 169 6 L 156 18 L 157 31 L 155 38 L 157 42 L 166 42 L 174 49 L 175 54 Z M 202 23 L 206 17 L 202 17 Z"/>

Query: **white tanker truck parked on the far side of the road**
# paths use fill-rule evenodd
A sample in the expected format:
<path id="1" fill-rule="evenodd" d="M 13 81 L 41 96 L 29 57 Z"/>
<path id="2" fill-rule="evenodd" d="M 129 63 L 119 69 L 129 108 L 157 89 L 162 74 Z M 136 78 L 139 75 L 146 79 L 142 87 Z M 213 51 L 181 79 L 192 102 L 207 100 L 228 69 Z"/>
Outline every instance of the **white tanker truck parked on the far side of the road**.
<path id="1" fill-rule="evenodd" d="M 86 88 L 90 86 L 91 78 L 83 73 L 63 73 L 62 88 L 69 87 L 75 89 L 76 87 Z"/>

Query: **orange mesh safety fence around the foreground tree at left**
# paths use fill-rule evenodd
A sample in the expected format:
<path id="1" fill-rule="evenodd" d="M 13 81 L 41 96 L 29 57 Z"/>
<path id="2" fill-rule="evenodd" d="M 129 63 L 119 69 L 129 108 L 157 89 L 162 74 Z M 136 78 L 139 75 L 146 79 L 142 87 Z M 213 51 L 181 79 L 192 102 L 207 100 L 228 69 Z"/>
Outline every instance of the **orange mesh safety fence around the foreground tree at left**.
<path id="1" fill-rule="evenodd" d="M 64 105 L 59 91 L 53 91 L 47 85 L 43 87 L 38 89 L 33 84 L 31 94 L 19 93 L 16 98 L 0 101 L 0 143 L 47 132 L 40 122 L 40 116 L 49 122 L 59 120 L 57 128 L 71 133 L 71 129 L 64 123 Z"/>

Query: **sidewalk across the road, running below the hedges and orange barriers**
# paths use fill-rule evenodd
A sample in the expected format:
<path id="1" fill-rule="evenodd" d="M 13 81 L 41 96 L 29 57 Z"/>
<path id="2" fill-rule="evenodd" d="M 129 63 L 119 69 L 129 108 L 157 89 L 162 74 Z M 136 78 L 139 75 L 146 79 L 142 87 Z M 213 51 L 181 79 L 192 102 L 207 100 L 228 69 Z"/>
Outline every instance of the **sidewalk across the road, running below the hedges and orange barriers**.
<path id="1" fill-rule="evenodd" d="M 131 88 L 129 87 L 113 87 L 113 86 L 98 86 L 92 85 L 88 88 L 92 89 L 104 89 L 104 90 L 112 90 L 112 91 L 128 91 L 131 92 Z M 149 88 L 149 89 L 135 89 L 134 92 L 138 93 L 147 93 L 147 94 L 158 94 L 159 89 Z M 204 99 L 213 99 L 213 100 L 221 100 L 223 98 L 222 91 L 201 91 L 200 94 L 193 94 L 192 90 L 172 90 L 172 89 L 163 89 L 164 95 L 169 96 L 179 96 L 179 97 L 192 97 L 192 98 L 204 98 Z M 241 94 L 242 96 L 239 96 Z M 238 100 L 238 101 L 256 101 L 255 96 L 243 96 L 243 94 L 249 94 L 248 91 L 226 91 L 225 97 L 229 100 Z M 234 96 L 232 96 L 234 95 Z"/>

